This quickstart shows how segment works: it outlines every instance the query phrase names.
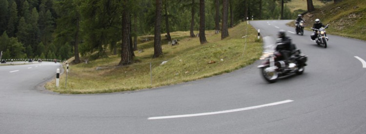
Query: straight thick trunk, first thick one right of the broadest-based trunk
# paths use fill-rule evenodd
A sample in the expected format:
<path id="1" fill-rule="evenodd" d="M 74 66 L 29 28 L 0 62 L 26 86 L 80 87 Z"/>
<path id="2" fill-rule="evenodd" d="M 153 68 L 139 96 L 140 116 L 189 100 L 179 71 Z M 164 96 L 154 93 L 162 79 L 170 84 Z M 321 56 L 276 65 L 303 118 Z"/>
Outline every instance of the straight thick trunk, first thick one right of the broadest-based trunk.
<path id="1" fill-rule="evenodd" d="M 154 37 L 154 58 L 163 55 L 161 21 L 162 21 L 162 0 L 156 0 L 156 19 L 155 19 L 155 37 Z"/>

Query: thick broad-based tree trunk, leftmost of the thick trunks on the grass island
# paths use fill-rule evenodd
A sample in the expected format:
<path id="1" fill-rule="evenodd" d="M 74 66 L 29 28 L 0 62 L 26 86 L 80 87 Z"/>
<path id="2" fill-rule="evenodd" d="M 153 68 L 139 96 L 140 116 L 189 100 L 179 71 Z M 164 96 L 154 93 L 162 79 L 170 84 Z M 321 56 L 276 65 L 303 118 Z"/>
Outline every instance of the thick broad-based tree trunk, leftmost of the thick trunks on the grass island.
<path id="1" fill-rule="evenodd" d="M 126 0 L 124 0 L 126 2 Z M 123 7 L 126 7 L 123 5 Z M 129 23 L 128 23 L 128 9 L 123 9 L 122 11 L 122 53 L 121 53 L 121 61 L 119 65 L 128 65 L 131 63 L 131 54 L 130 54 L 130 44 L 129 44 Z"/>

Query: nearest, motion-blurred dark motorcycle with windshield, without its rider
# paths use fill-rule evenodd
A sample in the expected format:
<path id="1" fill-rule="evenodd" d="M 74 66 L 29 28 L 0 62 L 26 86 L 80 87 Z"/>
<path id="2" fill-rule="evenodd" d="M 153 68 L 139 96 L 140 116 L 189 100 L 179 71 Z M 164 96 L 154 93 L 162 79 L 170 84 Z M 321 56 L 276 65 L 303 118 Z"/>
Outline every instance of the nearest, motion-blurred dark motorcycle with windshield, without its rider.
<path id="1" fill-rule="evenodd" d="M 275 44 L 275 46 L 277 45 L 279 44 Z M 305 66 L 307 65 L 305 63 L 307 61 L 307 56 L 296 48 L 291 51 L 288 65 L 285 63 L 281 53 L 274 50 L 264 51 L 264 56 L 262 56 L 261 59 L 263 60 L 263 63 L 259 65 L 258 68 L 261 71 L 261 75 L 269 83 L 276 82 L 279 77 L 291 74 L 301 75 L 304 73 Z"/>

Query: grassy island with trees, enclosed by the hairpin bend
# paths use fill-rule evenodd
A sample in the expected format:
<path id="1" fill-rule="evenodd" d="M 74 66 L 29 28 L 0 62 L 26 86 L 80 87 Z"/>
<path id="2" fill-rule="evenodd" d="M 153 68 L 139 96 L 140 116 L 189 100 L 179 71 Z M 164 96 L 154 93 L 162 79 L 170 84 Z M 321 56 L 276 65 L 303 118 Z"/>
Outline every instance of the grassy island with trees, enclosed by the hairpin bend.
<path id="1" fill-rule="evenodd" d="M 246 33 L 247 38 L 242 38 Z M 199 38 L 189 38 L 189 32 L 173 32 L 171 36 L 179 39 L 179 45 L 167 45 L 168 42 L 163 39 L 163 56 L 159 58 L 152 58 L 152 36 L 140 37 L 138 48 L 143 52 L 135 51 L 135 63 L 132 65 L 116 67 L 121 59 L 120 56 L 113 55 L 89 61 L 88 64 L 70 65 L 67 87 L 64 84 L 65 74 L 60 77 L 60 83 L 63 84 L 59 88 L 55 87 L 55 80 L 48 82 L 45 87 L 62 94 L 112 93 L 155 88 L 228 73 L 252 64 L 262 55 L 262 41 L 257 39 L 256 30 L 246 22 L 229 29 L 229 35 L 221 40 L 221 34 L 206 31 L 208 43 L 201 45 Z M 143 42 L 143 38 L 150 38 L 150 41 Z M 160 65 L 163 61 L 167 62 Z M 210 61 L 215 63 L 209 64 Z"/>

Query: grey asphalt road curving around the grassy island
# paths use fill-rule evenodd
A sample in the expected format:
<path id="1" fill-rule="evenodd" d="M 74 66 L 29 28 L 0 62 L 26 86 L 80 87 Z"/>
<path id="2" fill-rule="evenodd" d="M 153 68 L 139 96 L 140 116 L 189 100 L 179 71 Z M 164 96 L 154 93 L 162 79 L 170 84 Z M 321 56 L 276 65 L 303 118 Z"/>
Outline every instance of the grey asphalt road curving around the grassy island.
<path id="1" fill-rule="evenodd" d="M 280 29 L 294 32 L 288 21 L 250 23 L 275 37 Z M 59 63 L 0 66 L 0 134 L 365 133 L 366 68 L 356 57 L 366 59 L 366 42 L 327 32 L 328 48 L 311 41 L 310 31 L 287 32 L 308 55 L 308 66 L 273 84 L 260 76 L 257 61 L 174 86 L 59 95 L 42 88 Z"/>

